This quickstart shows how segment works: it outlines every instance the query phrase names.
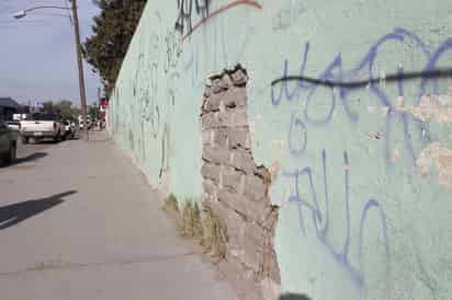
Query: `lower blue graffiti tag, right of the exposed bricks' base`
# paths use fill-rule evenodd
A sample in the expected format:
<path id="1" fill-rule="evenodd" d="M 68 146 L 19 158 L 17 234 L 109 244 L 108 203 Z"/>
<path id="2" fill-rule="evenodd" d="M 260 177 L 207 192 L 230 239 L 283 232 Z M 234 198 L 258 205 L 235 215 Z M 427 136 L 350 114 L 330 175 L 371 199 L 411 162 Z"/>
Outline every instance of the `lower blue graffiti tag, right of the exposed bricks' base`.
<path id="1" fill-rule="evenodd" d="M 364 230 L 366 228 L 368 215 L 370 211 L 374 210 L 376 216 L 380 220 L 381 226 L 381 234 L 382 234 L 382 243 L 385 247 L 385 267 L 386 274 L 389 274 L 389 247 L 387 241 L 387 229 L 386 229 L 386 216 L 381 206 L 381 204 L 376 199 L 369 199 L 361 211 L 360 217 L 360 228 L 358 234 L 358 266 L 352 265 L 350 262 L 350 242 L 351 242 L 351 234 L 350 234 L 350 223 L 351 223 L 351 216 L 350 216 L 350 171 L 348 170 L 349 165 L 349 157 L 347 152 L 343 152 L 343 163 L 346 165 L 344 171 L 344 210 L 346 210 L 346 234 L 343 236 L 343 244 L 339 249 L 336 249 L 331 241 L 328 239 L 329 233 L 329 208 L 330 208 L 330 195 L 328 189 L 328 181 L 327 181 L 327 154 L 326 150 L 321 152 L 323 159 L 323 181 L 324 181 L 324 197 L 325 197 L 325 211 L 323 211 L 319 207 L 317 193 L 315 189 L 314 181 L 313 181 L 313 170 L 309 166 L 304 169 L 296 169 L 291 172 L 284 172 L 284 177 L 292 180 L 294 185 L 295 192 L 287 197 L 287 201 L 296 203 L 298 208 L 298 220 L 300 220 L 300 228 L 303 231 L 303 234 L 306 235 L 306 218 L 304 216 L 305 210 L 307 209 L 310 212 L 312 221 L 315 228 L 316 236 L 318 241 L 328 250 L 329 254 L 334 257 L 334 259 L 341 265 L 347 273 L 349 274 L 351 280 L 359 287 L 360 289 L 365 287 L 365 276 L 363 273 L 363 241 L 364 241 Z M 300 195 L 300 180 L 301 177 L 307 178 L 307 192 L 309 194 L 309 199 L 304 198 Z"/>

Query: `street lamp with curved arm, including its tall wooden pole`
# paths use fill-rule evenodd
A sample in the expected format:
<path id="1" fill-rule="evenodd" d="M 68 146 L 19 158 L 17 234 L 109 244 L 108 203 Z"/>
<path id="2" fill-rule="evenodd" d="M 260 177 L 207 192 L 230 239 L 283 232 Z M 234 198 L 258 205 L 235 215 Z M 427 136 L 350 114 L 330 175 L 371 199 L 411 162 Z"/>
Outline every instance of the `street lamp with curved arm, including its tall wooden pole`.
<path id="1" fill-rule="evenodd" d="M 69 0 L 72 2 L 72 8 L 57 7 L 57 5 L 39 5 L 33 7 L 26 10 L 18 11 L 13 14 L 15 19 L 22 19 L 27 15 L 29 12 L 42 9 L 56 9 L 56 10 L 72 10 L 74 16 L 74 33 L 76 36 L 76 47 L 77 47 L 77 65 L 79 70 L 79 89 L 80 89 L 80 102 L 81 102 L 81 114 L 83 116 L 83 130 L 86 140 L 89 139 L 88 136 L 88 123 L 87 123 L 87 93 L 84 89 L 84 77 L 83 77 L 83 64 L 82 64 L 82 54 L 81 54 L 81 43 L 80 43 L 80 30 L 79 30 L 79 18 L 77 13 L 77 0 Z"/>

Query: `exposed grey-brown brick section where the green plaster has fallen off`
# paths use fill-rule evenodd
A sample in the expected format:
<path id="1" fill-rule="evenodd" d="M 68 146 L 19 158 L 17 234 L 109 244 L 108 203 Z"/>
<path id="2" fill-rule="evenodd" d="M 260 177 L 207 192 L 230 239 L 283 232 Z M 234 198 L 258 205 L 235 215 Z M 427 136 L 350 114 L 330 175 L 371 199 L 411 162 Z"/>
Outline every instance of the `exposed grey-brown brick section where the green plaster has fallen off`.
<path id="1" fill-rule="evenodd" d="M 270 173 L 256 165 L 250 149 L 247 71 L 237 66 L 210 79 L 201 107 L 205 201 L 227 227 L 226 261 L 249 287 L 245 296 L 276 299 L 260 288 L 281 281 L 273 245 L 278 207 L 268 196 Z"/>

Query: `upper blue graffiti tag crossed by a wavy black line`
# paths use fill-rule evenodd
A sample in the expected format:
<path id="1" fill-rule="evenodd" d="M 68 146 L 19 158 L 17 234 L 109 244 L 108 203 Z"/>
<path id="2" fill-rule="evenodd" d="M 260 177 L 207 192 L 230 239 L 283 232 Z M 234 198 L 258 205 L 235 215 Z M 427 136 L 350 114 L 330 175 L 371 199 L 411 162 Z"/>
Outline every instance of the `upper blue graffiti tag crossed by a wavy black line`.
<path id="1" fill-rule="evenodd" d="M 328 124 L 332 114 L 337 107 L 337 97 L 340 100 L 341 105 L 351 123 L 357 123 L 359 115 L 353 112 L 349 105 L 349 94 L 355 89 L 368 88 L 369 92 L 376 96 L 383 106 L 387 107 L 385 114 L 386 126 L 385 126 L 385 158 L 387 161 L 391 160 L 391 136 L 393 132 L 393 124 L 396 118 L 402 119 L 403 134 L 405 147 L 409 153 L 413 164 L 416 162 L 416 154 L 414 150 L 414 141 L 409 130 L 410 120 L 415 120 L 416 126 L 421 128 L 427 132 L 426 137 L 428 139 L 428 126 L 421 122 L 415 119 L 407 112 L 402 112 L 396 108 L 393 104 L 391 96 L 384 91 L 382 86 L 377 83 L 383 80 L 374 74 L 375 61 L 378 58 L 378 50 L 383 45 L 388 43 L 394 43 L 396 45 L 403 46 L 405 44 L 413 45 L 416 49 L 420 49 L 421 53 L 427 58 L 427 64 L 422 71 L 418 73 L 405 73 L 402 68 L 394 76 L 386 77 L 385 81 L 396 81 L 398 88 L 398 95 L 404 95 L 404 81 L 408 79 L 420 79 L 420 86 L 418 93 L 417 104 L 420 103 L 421 96 L 426 93 L 427 86 L 432 85 L 432 92 L 439 92 L 438 80 L 443 77 L 452 77 L 452 70 L 438 70 L 437 65 L 444 54 L 452 49 L 452 38 L 448 38 L 443 42 L 437 49 L 431 50 L 426 43 L 422 42 L 420 37 L 416 34 L 404 30 L 396 28 L 392 33 L 388 33 L 376 41 L 376 43 L 368 50 L 364 57 L 359 60 L 357 66 L 351 70 L 344 70 L 343 61 L 341 55 L 335 56 L 332 61 L 320 72 L 319 77 L 316 79 L 307 78 L 304 76 L 307 66 L 307 59 L 309 54 L 309 43 L 305 44 L 304 51 L 302 54 L 302 62 L 300 67 L 300 72 L 297 76 L 289 74 L 290 62 L 287 59 L 284 60 L 282 77 L 272 82 L 270 97 L 271 103 L 274 106 L 281 104 L 283 97 L 289 102 L 298 100 L 302 94 L 305 95 L 305 106 L 303 111 L 304 118 L 307 124 L 313 126 L 321 126 Z M 362 80 L 364 76 L 364 80 Z M 289 81 L 297 81 L 292 88 L 289 85 Z M 357 81 L 359 80 L 359 81 Z M 430 85 L 429 85 L 430 84 Z M 312 106 L 312 101 L 315 99 L 314 95 L 319 88 L 327 88 L 330 90 L 330 97 L 326 113 L 321 117 L 314 117 L 309 111 Z M 338 95 L 335 92 L 335 86 L 338 88 Z"/>

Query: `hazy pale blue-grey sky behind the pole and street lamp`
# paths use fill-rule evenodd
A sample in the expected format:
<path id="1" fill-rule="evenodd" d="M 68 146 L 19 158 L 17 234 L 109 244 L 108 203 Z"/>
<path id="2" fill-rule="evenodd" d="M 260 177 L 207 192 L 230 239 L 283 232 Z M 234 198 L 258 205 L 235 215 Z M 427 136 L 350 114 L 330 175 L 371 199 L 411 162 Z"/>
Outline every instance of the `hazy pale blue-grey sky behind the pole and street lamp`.
<path id="1" fill-rule="evenodd" d="M 69 5 L 68 0 L 0 0 L 0 97 L 29 101 L 70 100 L 80 103 L 77 55 L 69 11 L 42 9 L 15 20 L 12 14 L 36 5 Z M 100 10 L 78 0 L 80 35 L 92 34 Z M 87 102 L 98 100 L 101 81 L 84 62 Z"/>

